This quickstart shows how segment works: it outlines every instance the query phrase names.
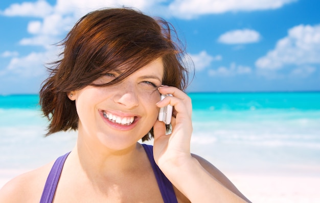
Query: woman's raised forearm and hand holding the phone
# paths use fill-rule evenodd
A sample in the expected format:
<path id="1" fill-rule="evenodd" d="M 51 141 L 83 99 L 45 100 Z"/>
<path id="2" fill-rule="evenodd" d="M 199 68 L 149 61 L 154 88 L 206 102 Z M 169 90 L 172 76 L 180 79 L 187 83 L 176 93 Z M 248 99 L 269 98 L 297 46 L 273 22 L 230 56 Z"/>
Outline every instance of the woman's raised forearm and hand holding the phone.
<path id="1" fill-rule="evenodd" d="M 190 153 L 192 134 L 191 99 L 174 87 L 159 88 L 162 94 L 172 94 L 158 107 L 174 106 L 172 133 L 165 135 L 165 124 L 156 121 L 154 129 L 154 160 L 172 184 L 191 202 L 245 202 L 235 186 L 213 165 Z M 248 201 L 248 200 L 247 200 Z"/>

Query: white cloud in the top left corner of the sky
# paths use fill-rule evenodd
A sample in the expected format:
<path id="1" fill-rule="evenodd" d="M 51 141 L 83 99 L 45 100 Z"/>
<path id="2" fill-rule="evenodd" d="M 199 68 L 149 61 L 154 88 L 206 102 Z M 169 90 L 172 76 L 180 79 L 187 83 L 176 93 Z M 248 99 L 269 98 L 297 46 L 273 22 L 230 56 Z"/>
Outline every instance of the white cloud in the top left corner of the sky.
<path id="1" fill-rule="evenodd" d="M 45 0 L 12 4 L 2 12 L 6 16 L 44 17 L 53 11 L 53 7 Z"/>

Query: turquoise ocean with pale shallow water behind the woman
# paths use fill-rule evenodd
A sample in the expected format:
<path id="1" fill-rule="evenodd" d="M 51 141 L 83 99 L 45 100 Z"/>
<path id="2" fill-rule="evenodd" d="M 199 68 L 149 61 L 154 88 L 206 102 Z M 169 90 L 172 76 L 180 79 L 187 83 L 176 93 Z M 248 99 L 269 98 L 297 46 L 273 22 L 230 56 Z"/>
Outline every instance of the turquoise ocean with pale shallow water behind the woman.
<path id="1" fill-rule="evenodd" d="M 192 152 L 223 172 L 320 175 L 320 92 L 189 93 Z M 44 137 L 38 95 L 0 96 L 0 178 L 72 150 L 76 132 Z"/>

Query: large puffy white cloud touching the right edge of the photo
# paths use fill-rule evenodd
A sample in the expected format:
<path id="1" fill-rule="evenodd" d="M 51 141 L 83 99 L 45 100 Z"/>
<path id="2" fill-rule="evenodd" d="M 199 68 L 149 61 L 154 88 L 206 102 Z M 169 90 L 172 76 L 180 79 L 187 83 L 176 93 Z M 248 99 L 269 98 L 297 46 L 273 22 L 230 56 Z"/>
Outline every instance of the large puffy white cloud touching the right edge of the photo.
<path id="1" fill-rule="evenodd" d="M 291 28 L 275 49 L 256 61 L 260 69 L 280 69 L 286 65 L 320 64 L 320 24 Z"/>

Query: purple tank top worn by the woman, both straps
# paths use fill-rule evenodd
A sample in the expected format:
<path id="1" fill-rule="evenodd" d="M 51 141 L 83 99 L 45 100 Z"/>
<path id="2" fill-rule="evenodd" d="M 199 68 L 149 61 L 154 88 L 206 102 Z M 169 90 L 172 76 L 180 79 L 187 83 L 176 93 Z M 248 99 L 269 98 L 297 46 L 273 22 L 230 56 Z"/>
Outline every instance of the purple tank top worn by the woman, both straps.
<path id="1" fill-rule="evenodd" d="M 163 174 L 160 168 L 156 165 L 153 159 L 153 146 L 142 144 L 144 147 L 148 159 L 151 163 L 159 190 L 165 203 L 177 203 L 173 186 L 167 177 Z M 59 182 L 60 174 L 63 168 L 63 164 L 70 153 L 67 153 L 59 157 L 53 164 L 51 171 L 48 175 L 47 181 L 45 182 L 44 189 L 41 195 L 40 203 L 52 203 L 57 185 Z"/>

